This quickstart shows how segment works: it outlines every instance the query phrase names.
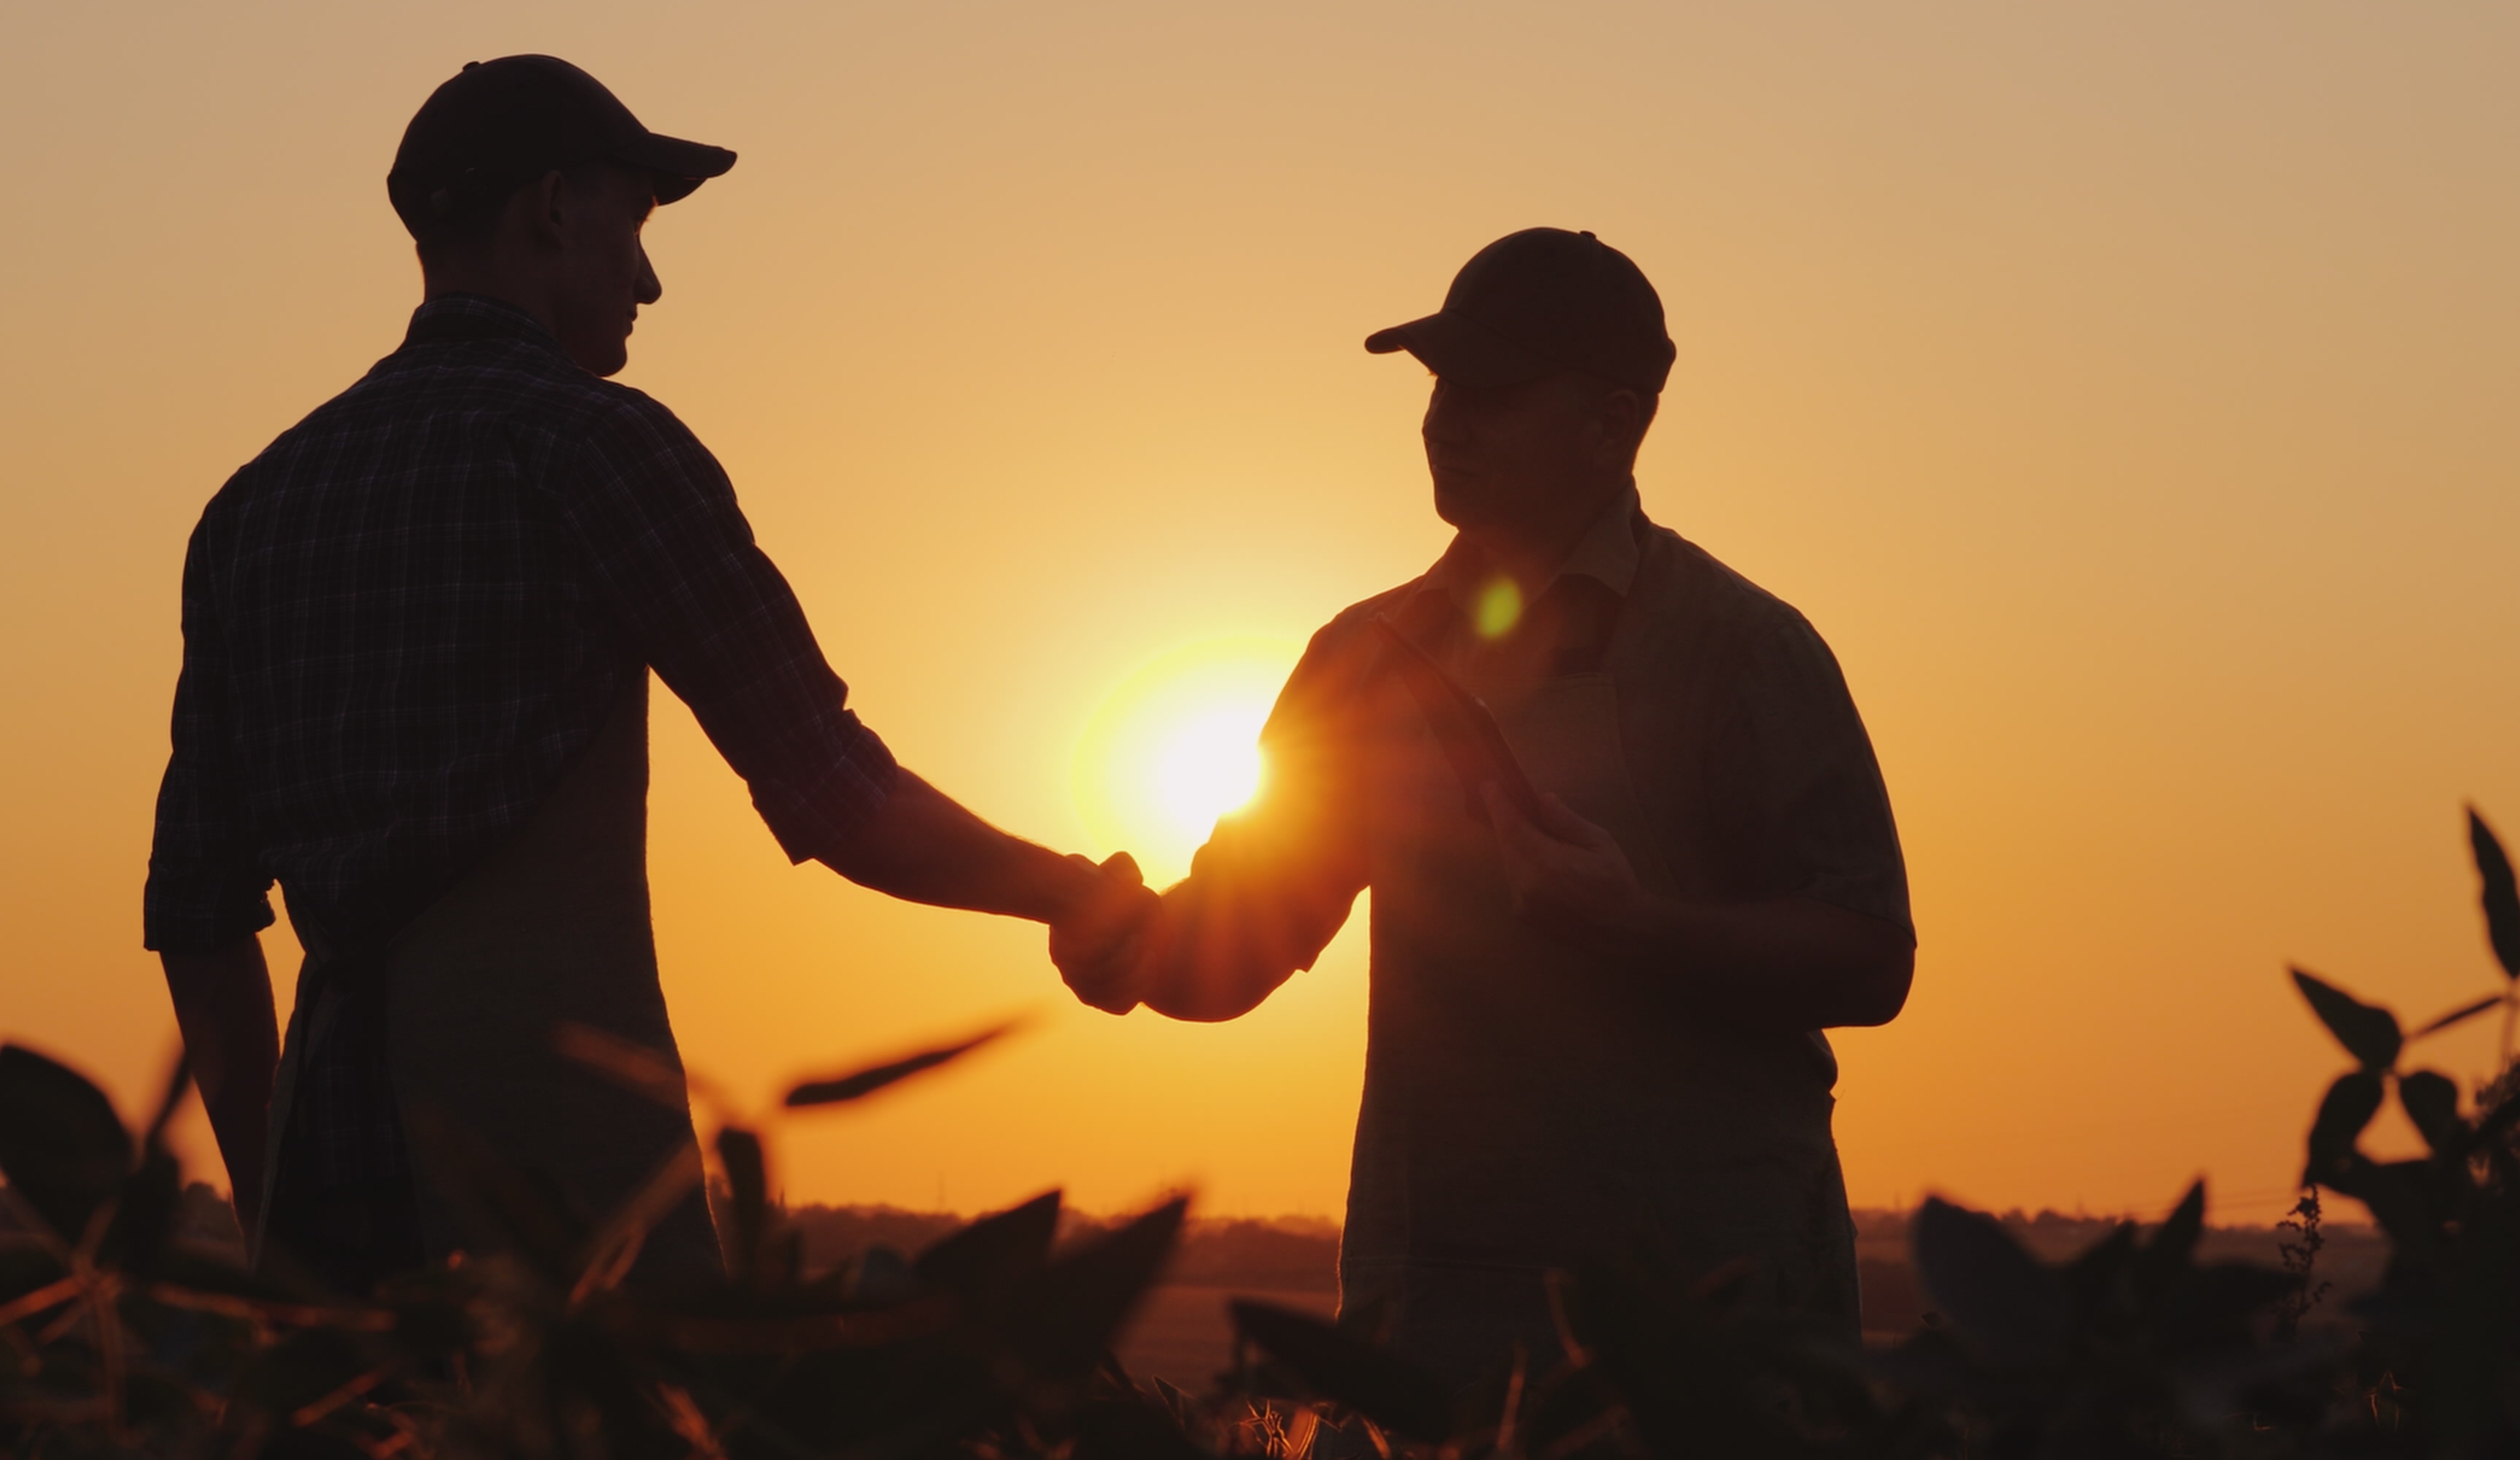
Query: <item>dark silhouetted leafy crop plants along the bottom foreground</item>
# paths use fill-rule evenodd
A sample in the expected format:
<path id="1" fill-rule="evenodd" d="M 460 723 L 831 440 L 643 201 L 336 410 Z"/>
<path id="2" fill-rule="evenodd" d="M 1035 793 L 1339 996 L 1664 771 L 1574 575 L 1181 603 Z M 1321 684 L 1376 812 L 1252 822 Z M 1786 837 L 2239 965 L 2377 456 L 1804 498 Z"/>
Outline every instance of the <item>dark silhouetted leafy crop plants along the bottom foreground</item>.
<path id="1" fill-rule="evenodd" d="M 2407 1031 L 2293 971 L 2354 1069 L 2318 1104 L 2276 1266 L 2200 1253 L 2202 1183 L 2157 1228 L 2117 1223 L 2064 1261 L 2019 1223 L 1928 1200 L 1910 1236 L 1933 1311 L 1895 1347 L 1756 1311 L 1741 1271 L 1683 1283 L 1630 1253 L 1555 1283 L 1565 1364 L 1499 1354 L 1469 1392 L 1383 1352 L 1381 1314 L 1265 1304 L 1235 1304 L 1237 1357 L 1205 1394 L 1129 1377 L 1109 1349 L 1182 1243 L 1179 1200 L 1068 1223 L 1061 1241 L 1051 1193 L 890 1238 L 927 1238 L 915 1258 L 874 1241 L 816 1271 L 771 1200 L 756 1122 L 723 1109 L 723 1286 L 622 1286 L 648 1223 L 703 1180 L 690 1147 L 595 1223 L 529 1173 L 469 1157 L 504 1251 L 343 1299 L 247 1273 L 204 1238 L 202 1188 L 164 1142 L 181 1067 L 134 1135 L 76 1072 L 0 1046 L 0 1175 L 28 1228 L 0 1243 L 0 1440 L 40 1457 L 277 1460 L 2520 1455 L 2520 893 L 2475 814 L 2470 832 L 2500 994 Z M 2404 1067 L 2412 1041 L 2495 1009 L 2500 1074 L 2472 1097 Z M 786 1104 L 859 1099 L 973 1044 Z M 564 1046 L 683 1099 L 643 1049 L 590 1031 Z M 2419 1157 L 2361 1150 L 2391 1094 Z M 2369 1208 L 2389 1246 L 2379 1283 L 2331 1321 L 2311 1321 L 2331 1281 L 2321 1193 Z"/>

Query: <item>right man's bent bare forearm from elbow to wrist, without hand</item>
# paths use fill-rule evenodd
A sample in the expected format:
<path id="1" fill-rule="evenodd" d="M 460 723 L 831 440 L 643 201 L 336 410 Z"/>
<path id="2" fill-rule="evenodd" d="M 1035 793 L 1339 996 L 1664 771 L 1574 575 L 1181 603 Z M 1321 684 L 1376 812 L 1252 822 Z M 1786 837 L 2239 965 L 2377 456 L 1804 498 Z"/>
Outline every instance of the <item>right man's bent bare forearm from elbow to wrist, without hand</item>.
<path id="1" fill-rule="evenodd" d="M 1613 938 L 1641 966 L 1676 971 L 1704 1009 L 1777 1034 L 1887 1024 L 1915 976 L 1908 928 L 1809 898 L 1719 905 L 1641 895 Z"/>

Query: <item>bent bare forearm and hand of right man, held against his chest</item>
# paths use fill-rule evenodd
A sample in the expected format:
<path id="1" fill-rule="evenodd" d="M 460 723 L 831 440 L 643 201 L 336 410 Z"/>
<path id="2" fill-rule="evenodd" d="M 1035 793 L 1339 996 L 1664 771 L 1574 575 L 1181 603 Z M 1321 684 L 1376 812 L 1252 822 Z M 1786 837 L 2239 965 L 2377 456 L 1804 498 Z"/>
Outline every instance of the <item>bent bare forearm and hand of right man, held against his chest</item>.
<path id="1" fill-rule="evenodd" d="M 1671 968 L 1686 996 L 1749 1029 L 1799 1034 L 1887 1024 L 1908 1001 L 1915 936 L 1812 898 L 1678 903 L 1646 890 L 1608 830 L 1557 797 L 1532 825 L 1487 787 L 1515 910 L 1641 966 Z"/>

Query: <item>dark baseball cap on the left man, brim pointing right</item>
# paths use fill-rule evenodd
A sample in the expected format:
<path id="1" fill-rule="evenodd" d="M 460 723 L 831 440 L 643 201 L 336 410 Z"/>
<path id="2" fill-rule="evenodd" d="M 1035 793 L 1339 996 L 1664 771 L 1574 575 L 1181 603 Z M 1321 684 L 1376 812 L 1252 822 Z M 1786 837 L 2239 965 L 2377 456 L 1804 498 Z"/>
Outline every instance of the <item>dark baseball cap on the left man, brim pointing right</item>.
<path id="1" fill-rule="evenodd" d="M 736 154 L 648 131 L 602 81 L 557 55 L 501 55 L 464 63 L 428 93 L 403 129 L 386 194 L 418 235 L 466 202 L 582 161 L 643 169 L 655 199 L 675 202 L 736 166 Z"/>

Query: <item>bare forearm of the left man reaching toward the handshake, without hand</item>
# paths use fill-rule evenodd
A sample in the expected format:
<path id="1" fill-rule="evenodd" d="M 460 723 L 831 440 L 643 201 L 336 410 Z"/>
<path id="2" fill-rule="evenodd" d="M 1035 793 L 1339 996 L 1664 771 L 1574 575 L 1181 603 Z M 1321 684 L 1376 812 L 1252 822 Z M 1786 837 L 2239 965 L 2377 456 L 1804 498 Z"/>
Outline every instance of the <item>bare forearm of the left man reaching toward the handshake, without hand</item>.
<path id="1" fill-rule="evenodd" d="M 1058 923 L 1096 890 L 1091 865 L 990 827 L 907 769 L 822 862 L 892 898 L 1033 923 Z"/>

